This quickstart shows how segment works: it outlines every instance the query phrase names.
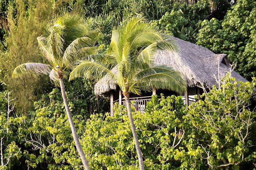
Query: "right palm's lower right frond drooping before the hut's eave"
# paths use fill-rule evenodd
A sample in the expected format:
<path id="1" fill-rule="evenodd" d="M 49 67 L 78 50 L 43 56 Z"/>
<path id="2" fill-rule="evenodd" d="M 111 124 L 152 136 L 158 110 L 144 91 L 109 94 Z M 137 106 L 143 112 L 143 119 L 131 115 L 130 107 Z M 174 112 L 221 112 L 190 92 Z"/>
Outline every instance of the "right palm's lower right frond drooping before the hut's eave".
<path id="1" fill-rule="evenodd" d="M 182 94 L 186 91 L 186 82 L 180 72 L 167 66 L 155 66 L 137 73 L 135 82 L 130 86 L 138 86 L 144 91 L 152 91 L 152 88 L 167 89 Z"/>

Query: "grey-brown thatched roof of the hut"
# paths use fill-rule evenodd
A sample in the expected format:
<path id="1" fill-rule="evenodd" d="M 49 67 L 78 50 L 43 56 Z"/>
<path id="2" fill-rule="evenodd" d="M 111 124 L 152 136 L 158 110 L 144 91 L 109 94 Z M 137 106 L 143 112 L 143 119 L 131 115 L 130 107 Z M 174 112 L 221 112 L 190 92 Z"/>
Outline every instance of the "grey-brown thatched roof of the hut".
<path id="1" fill-rule="evenodd" d="M 165 64 L 183 73 L 187 86 L 196 86 L 198 82 L 213 86 L 217 83 L 214 75 L 217 78 L 220 75 L 221 79 L 229 71 L 227 54 L 215 54 L 191 42 L 175 37 L 171 39 L 176 41 L 178 50 L 176 52 L 158 51 L 155 58 L 156 64 Z M 113 68 L 112 71 L 117 74 L 117 68 Z M 232 71 L 231 75 L 238 81 L 247 81 L 235 71 Z M 116 83 L 105 76 L 95 84 L 94 92 L 96 95 L 103 95 L 109 90 L 116 89 Z"/>

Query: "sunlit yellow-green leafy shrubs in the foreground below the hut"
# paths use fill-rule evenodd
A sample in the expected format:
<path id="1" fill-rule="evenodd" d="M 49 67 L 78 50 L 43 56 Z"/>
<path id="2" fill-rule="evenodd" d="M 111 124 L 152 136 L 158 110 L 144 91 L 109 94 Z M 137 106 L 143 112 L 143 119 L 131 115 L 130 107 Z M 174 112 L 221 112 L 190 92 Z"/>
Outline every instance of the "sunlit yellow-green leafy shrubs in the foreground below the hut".
<path id="1" fill-rule="evenodd" d="M 223 164 L 229 164 L 231 169 L 253 169 L 256 112 L 247 106 L 255 93 L 255 79 L 252 83 L 240 83 L 239 87 L 233 78 L 223 82 L 225 86 L 219 90 L 214 87 L 191 105 L 190 110 L 186 110 L 181 97 L 175 96 L 153 96 L 144 114 L 133 109 L 146 169 L 208 169 Z M 67 95 L 71 100 L 69 92 Z M 95 114 L 90 119 L 80 113 L 83 106 L 76 100 L 71 100 L 69 106 L 92 169 L 137 169 L 136 150 L 124 106 L 116 105 L 114 117 Z M 36 111 L 27 117 L 10 118 L 9 135 L 2 130 L 6 126 L 1 126 L 0 137 L 8 138 L 4 145 L 4 148 L 9 146 L 5 149 L 6 155 L 18 153 L 9 165 L 15 169 L 19 163 L 24 169 L 26 166 L 80 169 L 81 160 L 59 90 L 54 89 L 48 97 L 42 97 L 34 107 Z M 0 118 L 6 120 L 5 111 Z M 184 130 L 183 138 L 178 135 L 174 139 L 175 129 Z"/>

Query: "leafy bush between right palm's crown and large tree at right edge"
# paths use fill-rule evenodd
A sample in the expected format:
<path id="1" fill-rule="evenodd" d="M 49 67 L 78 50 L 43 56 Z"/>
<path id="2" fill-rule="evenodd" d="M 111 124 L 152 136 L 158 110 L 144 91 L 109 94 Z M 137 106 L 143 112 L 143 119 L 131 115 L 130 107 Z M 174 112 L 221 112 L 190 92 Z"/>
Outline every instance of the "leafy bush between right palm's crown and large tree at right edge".
<path id="1" fill-rule="evenodd" d="M 153 21 L 160 29 L 177 38 L 195 42 L 197 22 L 205 19 L 210 13 L 210 3 L 200 0 L 192 5 L 176 2 L 170 12 L 166 12 L 161 19 Z"/>

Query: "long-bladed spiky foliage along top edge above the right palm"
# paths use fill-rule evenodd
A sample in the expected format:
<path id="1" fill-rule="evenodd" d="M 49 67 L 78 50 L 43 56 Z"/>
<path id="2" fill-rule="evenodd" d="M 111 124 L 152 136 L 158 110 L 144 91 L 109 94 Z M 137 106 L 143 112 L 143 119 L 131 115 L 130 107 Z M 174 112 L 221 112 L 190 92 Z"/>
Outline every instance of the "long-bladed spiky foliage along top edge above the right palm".
<path id="1" fill-rule="evenodd" d="M 131 14 L 143 13 L 148 19 L 160 19 L 162 14 L 169 10 L 173 0 L 84 0 L 83 12 L 87 17 L 96 17 L 101 14 L 114 14 L 115 18 L 122 18 Z"/>

